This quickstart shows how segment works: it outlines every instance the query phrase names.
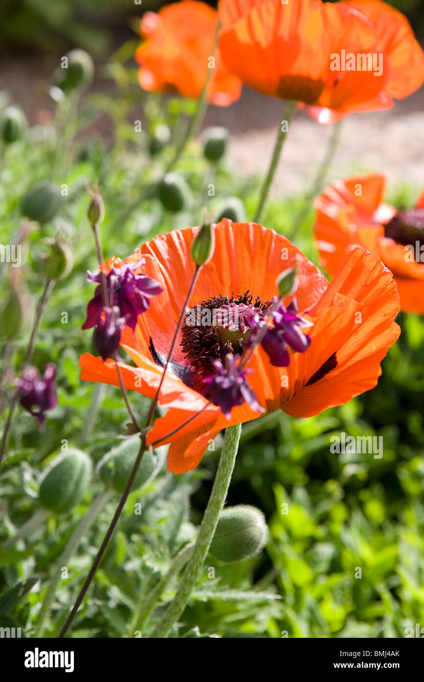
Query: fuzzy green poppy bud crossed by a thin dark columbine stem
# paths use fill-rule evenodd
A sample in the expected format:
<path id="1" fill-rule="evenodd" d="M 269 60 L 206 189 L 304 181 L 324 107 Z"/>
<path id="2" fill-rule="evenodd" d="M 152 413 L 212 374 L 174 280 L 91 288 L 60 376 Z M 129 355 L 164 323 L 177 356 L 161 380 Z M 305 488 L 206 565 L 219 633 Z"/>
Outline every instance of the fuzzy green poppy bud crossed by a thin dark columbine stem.
<path id="1" fill-rule="evenodd" d="M 103 483 L 108 488 L 114 488 L 116 492 L 123 493 L 134 462 L 140 450 L 140 438 L 135 437 L 123 441 L 114 447 L 97 464 L 97 471 Z M 141 488 L 154 471 L 154 462 L 150 452 L 146 451 L 135 476 L 131 490 Z"/>

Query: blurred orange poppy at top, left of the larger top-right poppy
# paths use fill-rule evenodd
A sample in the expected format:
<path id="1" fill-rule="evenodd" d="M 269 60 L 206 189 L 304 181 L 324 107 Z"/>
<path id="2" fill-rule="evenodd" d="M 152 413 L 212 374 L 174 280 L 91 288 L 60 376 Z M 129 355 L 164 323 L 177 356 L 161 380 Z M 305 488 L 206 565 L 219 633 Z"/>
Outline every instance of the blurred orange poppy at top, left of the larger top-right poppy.
<path id="1" fill-rule="evenodd" d="M 140 64 L 138 80 L 144 90 L 174 90 L 184 97 L 198 98 L 208 75 L 218 14 L 203 2 L 182 0 L 156 14 L 146 12 L 140 23 L 145 42 L 136 50 Z M 208 83 L 208 100 L 229 106 L 240 98 L 242 83 L 214 54 Z"/>

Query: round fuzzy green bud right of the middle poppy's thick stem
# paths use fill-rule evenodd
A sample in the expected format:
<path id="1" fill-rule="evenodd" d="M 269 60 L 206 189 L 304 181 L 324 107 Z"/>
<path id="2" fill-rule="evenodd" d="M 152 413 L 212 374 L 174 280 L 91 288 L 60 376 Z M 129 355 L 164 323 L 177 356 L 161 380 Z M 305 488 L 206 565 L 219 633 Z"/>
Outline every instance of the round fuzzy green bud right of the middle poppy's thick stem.
<path id="1" fill-rule="evenodd" d="M 210 554 L 225 563 L 250 559 L 261 551 L 268 537 L 265 516 L 257 507 L 237 505 L 221 511 Z"/>

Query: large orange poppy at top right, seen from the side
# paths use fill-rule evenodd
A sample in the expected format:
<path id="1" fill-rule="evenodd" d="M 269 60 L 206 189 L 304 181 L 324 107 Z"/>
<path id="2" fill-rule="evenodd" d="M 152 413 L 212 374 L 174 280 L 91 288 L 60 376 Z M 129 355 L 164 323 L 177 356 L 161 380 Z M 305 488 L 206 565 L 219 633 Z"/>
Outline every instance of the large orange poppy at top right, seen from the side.
<path id="1" fill-rule="evenodd" d="M 424 81 L 408 20 L 380 0 L 220 0 L 218 15 L 228 68 L 320 123 L 391 108 Z"/>

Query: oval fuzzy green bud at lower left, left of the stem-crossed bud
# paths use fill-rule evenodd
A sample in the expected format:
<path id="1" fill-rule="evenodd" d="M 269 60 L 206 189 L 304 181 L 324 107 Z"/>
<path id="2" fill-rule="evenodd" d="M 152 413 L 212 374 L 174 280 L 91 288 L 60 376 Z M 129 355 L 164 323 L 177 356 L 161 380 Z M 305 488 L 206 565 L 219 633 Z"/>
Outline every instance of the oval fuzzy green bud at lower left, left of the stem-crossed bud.
<path id="1" fill-rule="evenodd" d="M 91 478 L 91 460 L 81 450 L 69 449 L 56 457 L 39 486 L 39 502 L 56 514 L 66 514 L 82 500 Z"/>

